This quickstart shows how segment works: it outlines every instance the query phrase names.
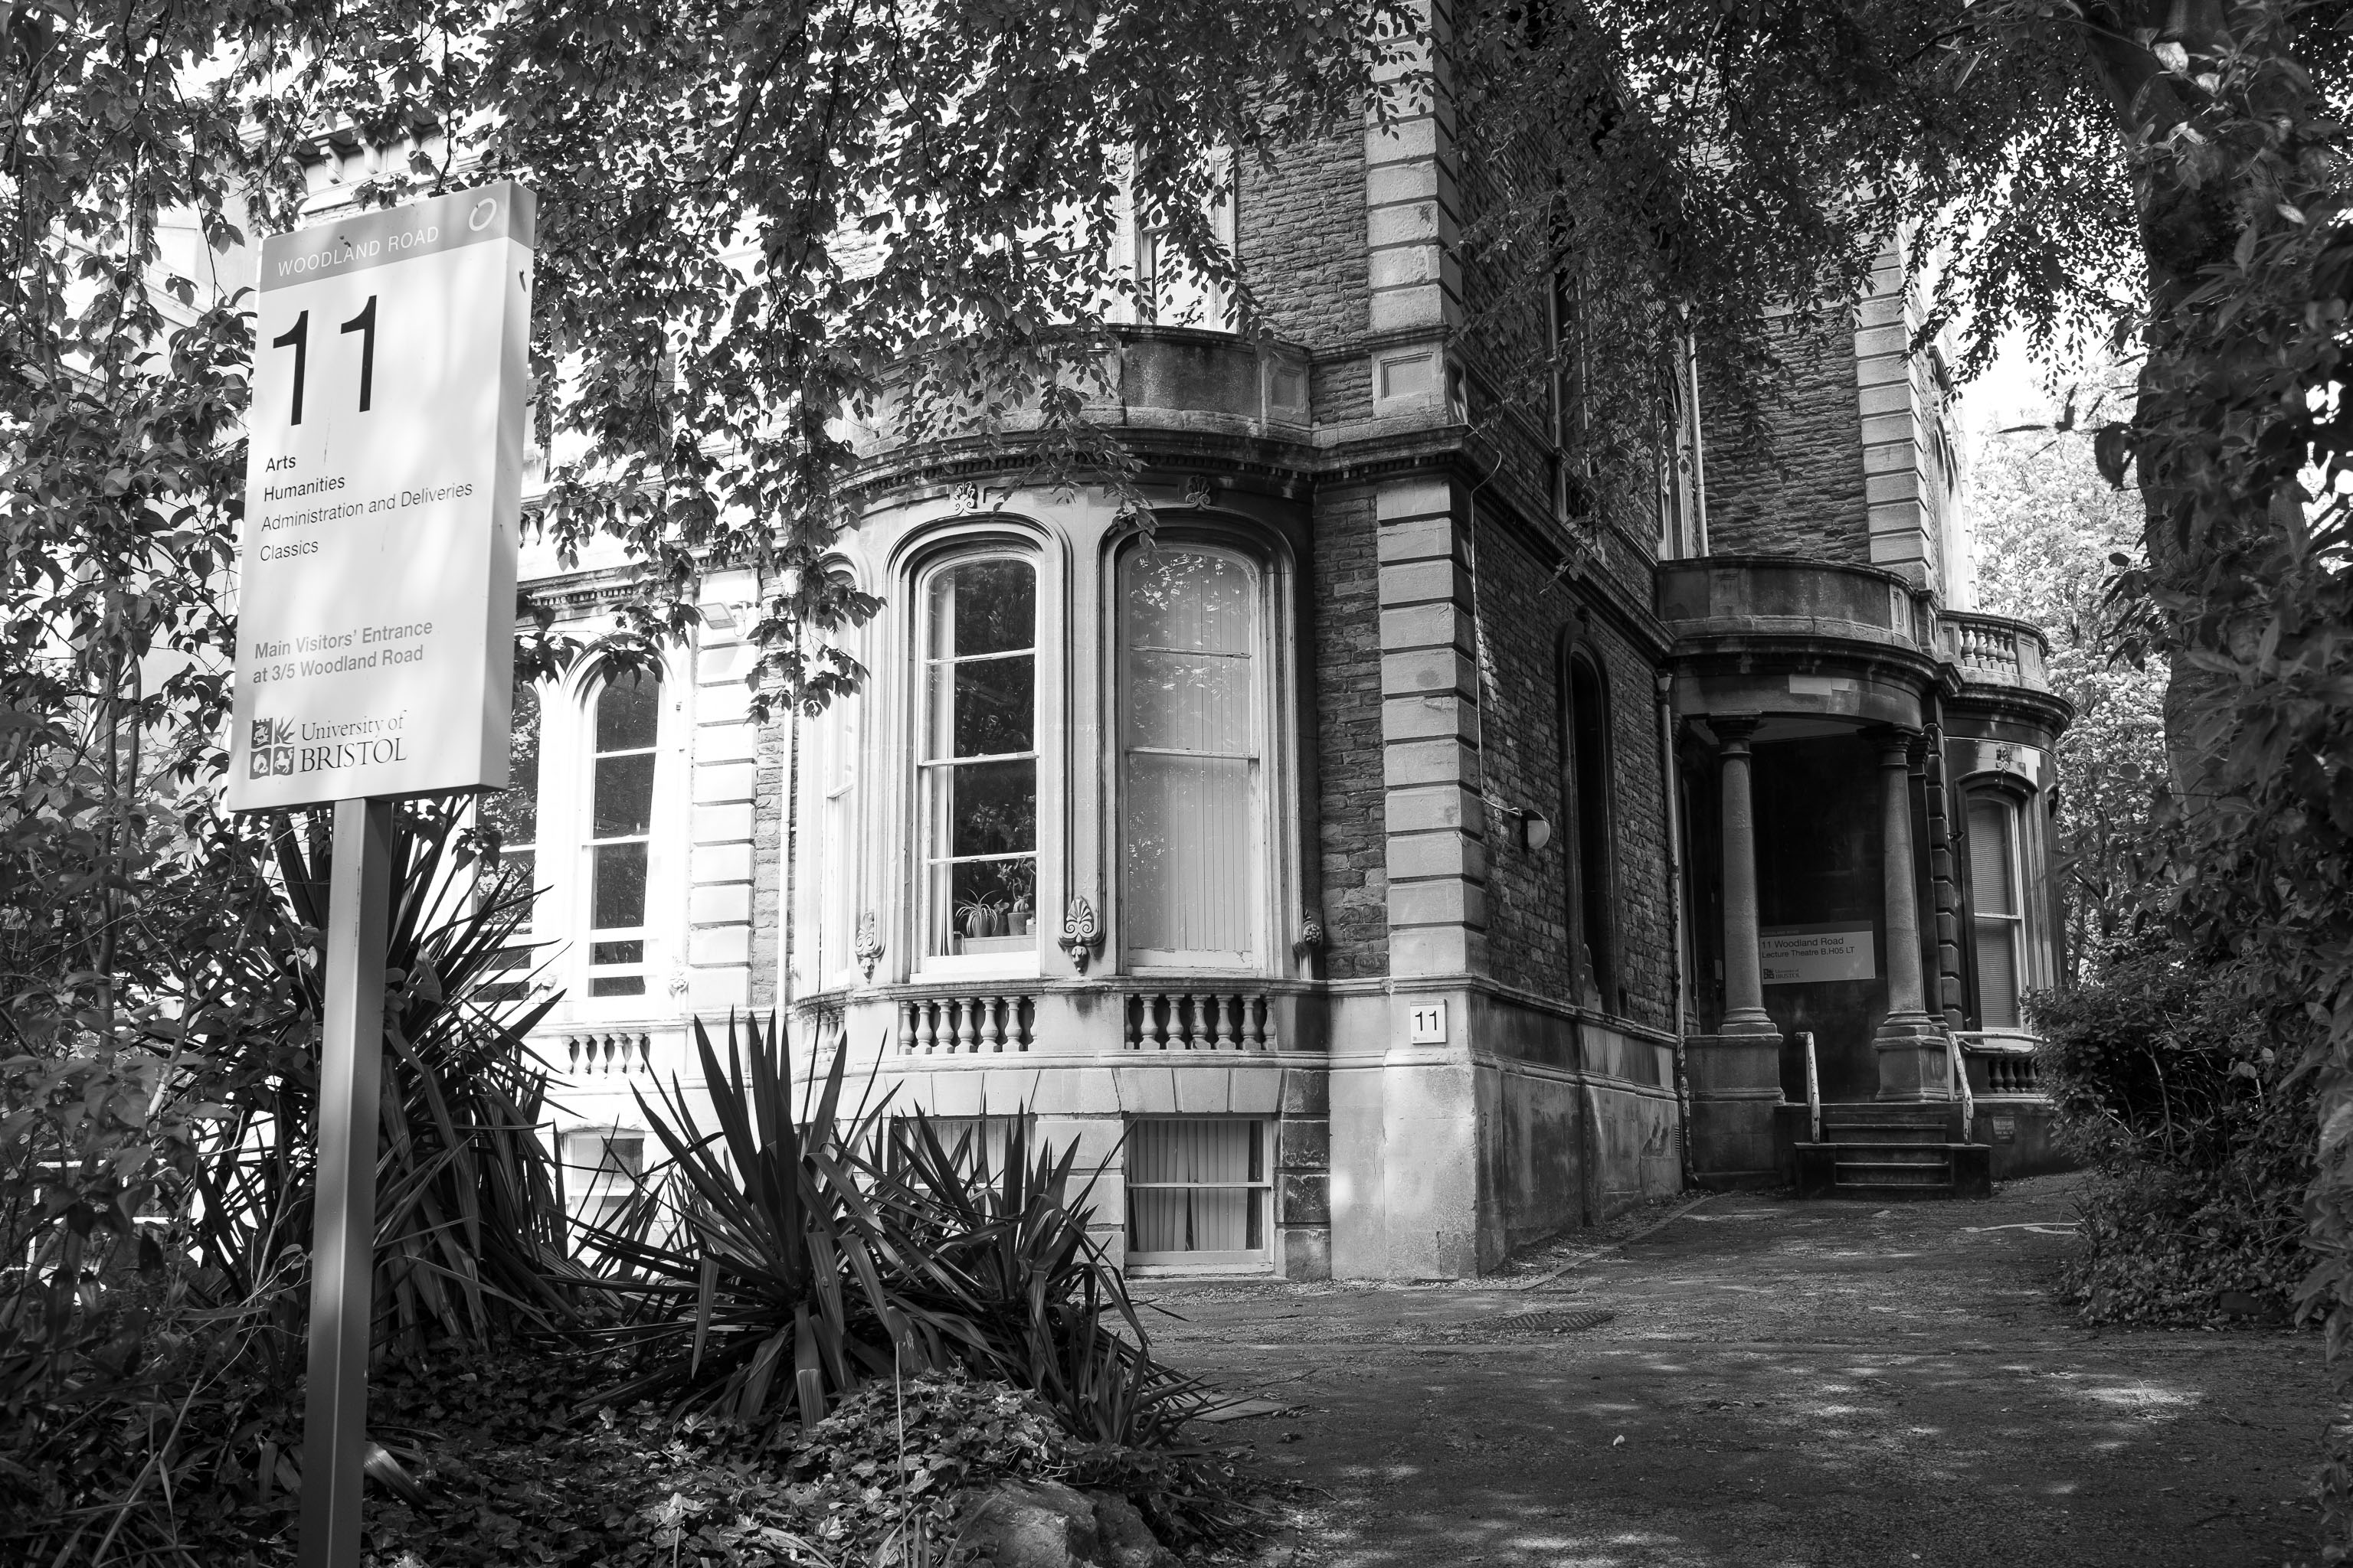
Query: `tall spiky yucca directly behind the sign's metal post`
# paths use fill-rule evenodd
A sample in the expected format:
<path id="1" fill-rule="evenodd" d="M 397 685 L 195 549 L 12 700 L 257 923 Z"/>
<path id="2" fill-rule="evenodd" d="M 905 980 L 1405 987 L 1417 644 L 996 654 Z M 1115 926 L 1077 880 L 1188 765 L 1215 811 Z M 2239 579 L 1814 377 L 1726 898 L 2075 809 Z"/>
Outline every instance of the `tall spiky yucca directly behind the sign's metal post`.
<path id="1" fill-rule="evenodd" d="M 325 835 L 273 832 L 282 931 L 238 950 L 238 1039 L 205 1093 L 226 1107 L 195 1164 L 191 1241 L 224 1300 L 254 1300 L 287 1248 L 306 1248 L 315 1194 L 318 964 L 332 875 Z M 393 813 L 384 1093 L 376 1159 L 376 1319 L 386 1349 L 485 1342 L 574 1314 L 584 1269 L 565 1253 L 553 1164 L 536 1126 L 546 1072 L 527 1034 L 555 1004 L 487 999 L 513 980 L 532 889 L 475 886 L 459 799 Z M 261 1001 L 252 1001 L 259 997 Z M 299 1324 L 292 1293 L 282 1312 Z"/>

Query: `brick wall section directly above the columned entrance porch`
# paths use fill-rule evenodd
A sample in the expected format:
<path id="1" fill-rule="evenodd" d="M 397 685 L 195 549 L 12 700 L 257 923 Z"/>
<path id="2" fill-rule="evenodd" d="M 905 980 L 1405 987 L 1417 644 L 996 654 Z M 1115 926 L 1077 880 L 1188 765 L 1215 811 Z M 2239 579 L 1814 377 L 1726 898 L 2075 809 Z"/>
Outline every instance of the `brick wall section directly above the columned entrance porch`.
<path id="1" fill-rule="evenodd" d="M 1864 425 L 1854 390 L 1854 322 L 1828 310 L 1788 327 L 1788 407 L 1772 411 L 1772 449 L 1744 449 L 1708 428 L 1708 550 L 1871 562 Z"/>

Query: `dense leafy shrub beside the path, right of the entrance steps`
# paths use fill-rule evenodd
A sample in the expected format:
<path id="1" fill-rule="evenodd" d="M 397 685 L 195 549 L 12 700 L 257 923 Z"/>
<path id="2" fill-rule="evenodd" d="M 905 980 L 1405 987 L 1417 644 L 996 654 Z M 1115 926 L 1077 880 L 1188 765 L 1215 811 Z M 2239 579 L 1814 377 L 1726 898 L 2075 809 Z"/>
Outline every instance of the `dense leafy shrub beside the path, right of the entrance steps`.
<path id="1" fill-rule="evenodd" d="M 2289 1314 L 2313 1175 L 2301 1020 L 2252 959 L 2118 954 L 2097 983 L 2035 997 L 2059 1131 L 2099 1168 L 2064 1291 L 2094 1324 Z"/>

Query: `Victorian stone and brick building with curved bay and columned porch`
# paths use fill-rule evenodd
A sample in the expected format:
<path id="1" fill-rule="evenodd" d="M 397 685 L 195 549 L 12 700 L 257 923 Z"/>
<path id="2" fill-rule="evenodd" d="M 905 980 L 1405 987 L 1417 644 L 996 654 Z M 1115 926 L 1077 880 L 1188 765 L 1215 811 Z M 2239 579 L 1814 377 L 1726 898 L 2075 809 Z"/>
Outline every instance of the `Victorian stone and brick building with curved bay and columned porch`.
<path id="1" fill-rule="evenodd" d="M 729 1009 L 896 1107 L 1078 1140 L 1134 1272 L 1478 1274 L 1842 1124 L 2042 1157 L 2019 997 L 2057 973 L 2068 715 L 2040 632 L 1967 609 L 1894 254 L 1809 339 L 1779 465 L 1706 463 L 1685 397 L 1647 503 L 1577 515 L 1565 418 L 1492 390 L 1551 343 L 1464 331 L 1421 110 L 1240 172 L 1264 331 L 1174 296 L 1122 329 L 1099 411 L 1151 529 L 878 442 L 856 701 L 755 724 L 760 585 L 720 574 L 659 682 L 518 708 L 574 1206 Z M 525 550 L 584 630 L 626 571 Z M 1922 1159 L 1847 1175 L 1958 1166 Z"/>

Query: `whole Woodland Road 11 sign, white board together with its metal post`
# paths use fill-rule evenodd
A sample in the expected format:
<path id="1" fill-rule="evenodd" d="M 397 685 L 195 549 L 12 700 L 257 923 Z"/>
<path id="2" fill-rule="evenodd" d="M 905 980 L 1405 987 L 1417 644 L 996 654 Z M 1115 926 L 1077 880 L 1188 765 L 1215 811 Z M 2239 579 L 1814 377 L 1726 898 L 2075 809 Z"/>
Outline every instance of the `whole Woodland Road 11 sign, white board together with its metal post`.
<path id="1" fill-rule="evenodd" d="M 532 193 L 261 247 L 231 811 L 334 804 L 301 1568 L 355 1568 L 393 802 L 504 790 Z"/>

